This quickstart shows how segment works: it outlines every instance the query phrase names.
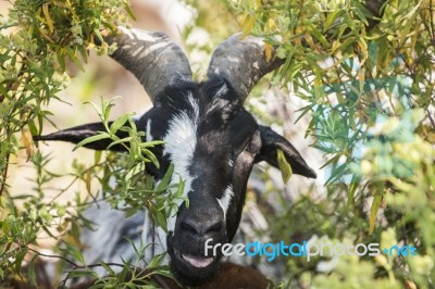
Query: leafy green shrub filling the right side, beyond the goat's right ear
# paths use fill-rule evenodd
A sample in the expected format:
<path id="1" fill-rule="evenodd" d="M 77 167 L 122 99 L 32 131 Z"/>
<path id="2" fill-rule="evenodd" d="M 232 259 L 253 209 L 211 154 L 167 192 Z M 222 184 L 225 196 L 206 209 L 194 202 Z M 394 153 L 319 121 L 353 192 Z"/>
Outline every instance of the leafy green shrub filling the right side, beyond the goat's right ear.
<path id="1" fill-rule="evenodd" d="M 433 2 L 386 1 L 374 14 L 382 2 L 232 1 L 246 34 L 279 46 L 286 63 L 274 80 L 306 101 L 299 116 L 309 115 L 307 134 L 327 156 L 327 198 L 287 208 L 275 240 L 418 248 L 415 256 L 289 259 L 291 287 L 435 282 Z"/>

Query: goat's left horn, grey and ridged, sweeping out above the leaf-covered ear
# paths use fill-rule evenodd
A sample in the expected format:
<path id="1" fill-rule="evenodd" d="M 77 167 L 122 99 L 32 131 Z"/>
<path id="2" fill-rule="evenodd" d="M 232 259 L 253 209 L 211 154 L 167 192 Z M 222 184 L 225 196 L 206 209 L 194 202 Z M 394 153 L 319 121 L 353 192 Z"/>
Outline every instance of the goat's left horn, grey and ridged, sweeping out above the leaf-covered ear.
<path id="1" fill-rule="evenodd" d="M 153 103 L 165 86 L 191 80 L 189 61 L 165 34 L 125 27 L 119 32 L 104 37 L 108 43 L 117 43 L 111 58 L 136 76 Z"/>

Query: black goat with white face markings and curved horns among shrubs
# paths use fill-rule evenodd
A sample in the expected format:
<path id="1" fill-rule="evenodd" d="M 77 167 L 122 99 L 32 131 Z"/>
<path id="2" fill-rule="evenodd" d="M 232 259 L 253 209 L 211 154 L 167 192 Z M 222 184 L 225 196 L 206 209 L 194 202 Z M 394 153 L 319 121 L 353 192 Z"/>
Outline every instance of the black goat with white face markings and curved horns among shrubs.
<path id="1" fill-rule="evenodd" d="M 192 80 L 186 55 L 167 36 L 135 28 L 119 30 L 120 34 L 105 37 L 109 43 L 117 43 L 111 56 L 137 77 L 153 103 L 152 109 L 135 121 L 136 126 L 146 133 L 146 141 L 164 140 L 164 144 L 153 149 L 160 167 L 149 165 L 147 173 L 159 180 L 173 163 L 174 175 L 185 180 L 184 196 L 189 206 L 179 204 L 177 214 L 167 219 L 167 234 L 153 225 L 147 212 L 127 221 L 122 212 L 109 209 L 105 213 L 91 212 L 92 216 L 100 215 L 101 226 L 110 222 L 111 231 L 97 231 L 97 237 L 89 237 L 88 244 L 101 242 L 101 238 L 116 239 L 115 236 L 122 235 L 121 228 L 145 224 L 144 231 L 136 237 L 145 243 L 156 243 L 147 259 L 167 251 L 174 276 L 183 285 L 200 285 L 213 277 L 222 259 L 222 253 L 210 256 L 204 242 L 233 240 L 248 177 L 256 163 L 265 161 L 277 167 L 277 150 L 281 150 L 294 174 L 316 177 L 290 142 L 270 127 L 259 125 L 244 109 L 251 88 L 283 61 L 266 59 L 261 38 L 234 35 L 213 52 L 208 79 L 197 83 Z M 101 123 L 91 123 L 35 139 L 78 143 L 101 130 L 104 130 Z M 86 147 L 105 150 L 109 144 L 108 140 L 100 140 Z M 115 215 L 113 219 L 111 215 Z M 114 224 L 124 225 L 116 228 Z M 98 248 L 88 251 L 94 252 L 92 259 L 111 262 L 125 252 L 115 240 L 112 243 L 103 251 Z"/>

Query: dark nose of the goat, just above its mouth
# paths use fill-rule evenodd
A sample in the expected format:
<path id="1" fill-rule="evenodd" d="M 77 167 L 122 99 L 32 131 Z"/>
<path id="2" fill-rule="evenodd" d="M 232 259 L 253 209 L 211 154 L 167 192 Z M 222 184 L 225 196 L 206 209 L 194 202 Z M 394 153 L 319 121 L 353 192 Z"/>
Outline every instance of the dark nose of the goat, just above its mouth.
<path id="1" fill-rule="evenodd" d="M 219 216 L 207 216 L 200 221 L 192 217 L 186 217 L 179 225 L 183 233 L 197 237 L 219 234 L 222 231 L 222 221 Z"/>

